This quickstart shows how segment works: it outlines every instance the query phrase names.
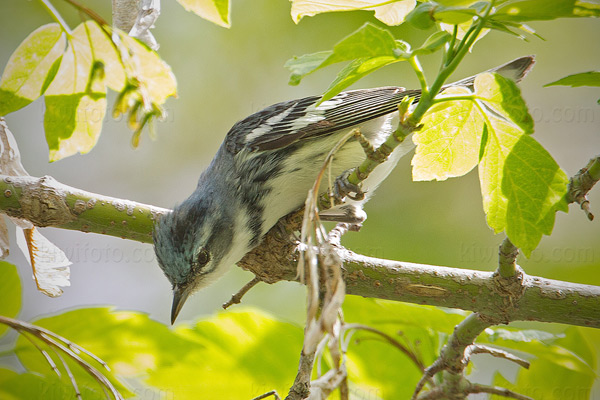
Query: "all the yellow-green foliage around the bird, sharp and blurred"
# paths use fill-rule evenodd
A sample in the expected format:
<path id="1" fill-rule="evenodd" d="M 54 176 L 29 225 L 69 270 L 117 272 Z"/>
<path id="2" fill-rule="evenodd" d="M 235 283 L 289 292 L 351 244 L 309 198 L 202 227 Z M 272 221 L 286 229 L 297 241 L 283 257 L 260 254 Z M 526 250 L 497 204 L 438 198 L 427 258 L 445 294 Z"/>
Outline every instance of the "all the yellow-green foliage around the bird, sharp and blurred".
<path id="1" fill-rule="evenodd" d="M 179 2 L 203 18 L 230 26 L 228 0 Z M 414 180 L 446 180 L 477 166 L 488 225 L 495 233 L 505 232 L 530 255 L 542 235 L 552 232 L 556 212 L 567 211 L 566 174 L 532 136 L 533 119 L 513 81 L 490 72 L 478 75 L 472 84 L 444 85 L 489 32 L 528 40 L 535 35 L 528 21 L 599 16 L 600 8 L 575 0 L 292 1 L 296 23 L 305 16 L 348 10 L 374 11 L 375 18 L 387 25 L 406 21 L 433 32 L 421 46 L 412 46 L 389 29 L 367 23 L 331 50 L 289 60 L 285 65 L 291 71 L 289 83 L 298 85 L 326 66 L 347 63 L 323 92 L 321 101 L 325 101 L 382 67 L 409 63 L 421 84 L 421 93 L 407 97 L 401 109 L 417 146 L 412 160 Z M 143 43 L 98 18 L 71 30 L 54 17 L 58 23 L 31 33 L 4 69 L 0 115 L 44 96 L 49 158 L 55 161 L 94 147 L 110 88 L 118 93 L 113 115 L 129 113 L 137 146 L 142 129 L 163 116 L 167 98 L 176 95 L 170 67 Z M 419 57 L 437 52 L 439 73 L 426 77 Z M 598 72 L 571 75 L 548 85 L 598 86 Z M 404 139 L 402 128 L 392 139 Z M 0 277 L 0 292 L 8 299 L 0 303 L 0 315 L 15 317 L 21 290 L 14 266 L 0 263 Z M 465 316 L 460 311 L 357 298 L 344 304 L 346 322 L 368 325 L 393 338 L 416 355 L 419 365 L 436 360 Z M 211 393 L 219 398 L 243 398 L 272 389 L 285 392 L 296 372 L 303 336 L 301 327 L 252 309 L 220 313 L 172 329 L 141 313 L 100 307 L 33 322 L 104 360 L 110 367 L 104 374 L 126 397 L 152 393 L 185 399 Z M 0 334 L 5 330 L 0 326 Z M 61 349 L 21 333 L 10 352 L 27 372 L 0 369 L 0 397 L 65 398 L 72 395 L 75 381 L 84 398 L 105 398 L 97 379 L 67 352 L 61 355 Z M 570 389 L 590 392 L 597 371 L 593 335 L 574 327 L 563 335 L 506 327 L 487 329 L 478 341 L 517 352 L 531 363 L 531 369 L 520 370 L 516 379 L 496 373 L 495 384 L 559 399 L 567 397 L 565 391 Z M 422 375 L 415 360 L 373 331 L 355 327 L 344 339 L 350 343 L 347 364 L 356 397 L 407 398 L 412 394 Z M 331 354 L 320 356 L 318 369 L 335 368 Z M 81 357 L 90 364 L 98 362 L 89 354 Z M 549 385 L 548 376 L 558 378 Z"/>

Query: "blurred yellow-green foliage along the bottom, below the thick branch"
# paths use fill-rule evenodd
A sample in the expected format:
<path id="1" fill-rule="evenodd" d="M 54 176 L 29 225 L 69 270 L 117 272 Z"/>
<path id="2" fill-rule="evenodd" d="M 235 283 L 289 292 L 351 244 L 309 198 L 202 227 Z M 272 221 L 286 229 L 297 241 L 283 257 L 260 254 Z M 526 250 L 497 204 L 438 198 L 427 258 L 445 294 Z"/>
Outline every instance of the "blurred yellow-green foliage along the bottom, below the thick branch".
<path id="1" fill-rule="evenodd" d="M 0 277 L 11 282 L 13 291 L 20 290 L 14 266 L 3 263 Z M 20 296 L 7 299 L 10 301 L 5 304 L 14 310 Z M 348 323 L 358 322 L 390 335 L 429 364 L 467 313 L 349 296 L 344 314 Z M 252 398 L 272 389 L 284 393 L 295 374 L 302 346 L 300 326 L 254 309 L 221 312 L 171 329 L 145 314 L 106 307 L 66 311 L 32 323 L 100 357 L 110 368 L 104 374 L 126 397 L 192 399 L 198 393 L 211 393 L 219 398 Z M 532 363 L 529 371 L 519 373 L 516 383 L 502 375 L 496 376 L 496 383 L 525 392 L 535 388 L 539 398 L 558 399 L 561 397 L 552 393 L 591 390 L 597 366 L 590 345 L 592 333 L 575 327 L 564 334 L 496 328 L 487 329 L 479 342 L 517 351 Z M 0 369 L 0 397 L 52 400 L 72 396 L 71 381 L 57 353 L 25 336 L 8 351 L 28 372 Z M 368 331 L 353 331 L 347 340 L 350 387 L 356 398 L 410 396 L 421 371 L 405 354 Z M 40 350 L 57 361 L 60 376 Z M 84 399 L 106 398 L 89 374 L 68 357 L 64 359 Z M 478 365 L 476 361 L 474 368 Z M 319 368 L 327 370 L 329 366 L 325 355 Z M 548 374 L 561 378 L 554 379 L 553 385 L 543 384 Z"/>

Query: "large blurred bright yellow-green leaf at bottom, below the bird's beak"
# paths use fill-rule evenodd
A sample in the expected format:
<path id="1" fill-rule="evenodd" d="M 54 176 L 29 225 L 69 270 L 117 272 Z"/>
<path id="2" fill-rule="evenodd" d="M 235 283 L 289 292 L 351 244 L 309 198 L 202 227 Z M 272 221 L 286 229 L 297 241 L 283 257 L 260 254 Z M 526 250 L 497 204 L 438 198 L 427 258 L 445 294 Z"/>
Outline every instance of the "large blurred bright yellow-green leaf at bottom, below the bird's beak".
<path id="1" fill-rule="evenodd" d="M 148 383 L 175 399 L 252 398 L 289 388 L 297 372 L 302 329 L 255 310 L 224 312 L 176 334 L 192 345 L 170 365 L 151 371 Z M 223 379 L 227 376 L 227 379 Z"/>

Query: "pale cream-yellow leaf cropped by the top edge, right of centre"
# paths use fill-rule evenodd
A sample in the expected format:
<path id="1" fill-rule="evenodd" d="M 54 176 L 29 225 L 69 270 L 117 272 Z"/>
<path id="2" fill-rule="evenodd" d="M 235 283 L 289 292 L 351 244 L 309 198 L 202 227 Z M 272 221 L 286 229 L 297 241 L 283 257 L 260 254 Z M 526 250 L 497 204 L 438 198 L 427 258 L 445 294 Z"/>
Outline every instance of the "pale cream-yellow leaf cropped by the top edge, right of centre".
<path id="1" fill-rule="evenodd" d="M 291 0 L 292 19 L 295 23 L 303 17 L 312 17 L 325 12 L 366 10 L 375 11 L 375 18 L 386 25 L 400 25 L 406 15 L 415 8 L 415 0 L 399 0 L 374 4 L 365 0 Z"/>

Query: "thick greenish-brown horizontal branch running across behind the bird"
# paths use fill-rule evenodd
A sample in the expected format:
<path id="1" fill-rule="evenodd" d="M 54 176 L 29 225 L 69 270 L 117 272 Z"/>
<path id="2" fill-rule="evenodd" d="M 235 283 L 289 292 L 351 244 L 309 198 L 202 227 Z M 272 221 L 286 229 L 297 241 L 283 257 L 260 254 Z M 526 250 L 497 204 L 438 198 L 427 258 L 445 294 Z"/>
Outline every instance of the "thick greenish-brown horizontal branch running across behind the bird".
<path id="1" fill-rule="evenodd" d="M 0 209 L 36 226 L 80 230 L 152 243 L 164 208 L 86 192 L 51 177 L 0 175 Z M 298 229 L 301 212 L 282 224 Z M 264 282 L 297 281 L 296 244 L 274 227 L 238 265 Z M 600 287 L 522 275 L 523 293 L 504 304 L 492 272 L 377 259 L 335 247 L 346 292 L 364 297 L 471 310 L 504 322 L 531 320 L 600 327 Z"/>

